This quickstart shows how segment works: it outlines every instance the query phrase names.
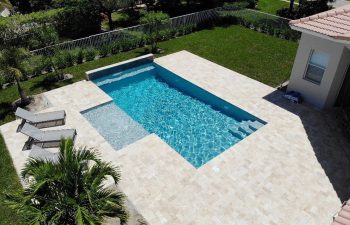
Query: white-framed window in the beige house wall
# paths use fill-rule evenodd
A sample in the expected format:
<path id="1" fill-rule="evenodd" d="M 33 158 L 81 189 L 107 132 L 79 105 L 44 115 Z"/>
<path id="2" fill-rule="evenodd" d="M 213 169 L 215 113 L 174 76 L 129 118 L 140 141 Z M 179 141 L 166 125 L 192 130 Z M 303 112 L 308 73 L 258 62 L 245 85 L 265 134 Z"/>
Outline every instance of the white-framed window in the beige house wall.
<path id="1" fill-rule="evenodd" d="M 320 84 L 324 71 L 327 68 L 329 56 L 327 53 L 312 50 L 309 64 L 305 72 L 305 79 Z"/>

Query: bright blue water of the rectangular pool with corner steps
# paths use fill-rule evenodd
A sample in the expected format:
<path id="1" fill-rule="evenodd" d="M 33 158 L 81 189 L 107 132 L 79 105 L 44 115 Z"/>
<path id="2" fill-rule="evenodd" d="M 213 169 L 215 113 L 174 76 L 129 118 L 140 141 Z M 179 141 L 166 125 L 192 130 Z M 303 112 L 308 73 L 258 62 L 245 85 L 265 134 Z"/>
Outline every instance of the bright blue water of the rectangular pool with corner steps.
<path id="1" fill-rule="evenodd" d="M 155 63 L 115 71 L 93 82 L 112 97 L 118 108 L 196 168 L 265 124 Z M 89 121 L 95 127 L 102 126 L 99 132 L 105 133 L 110 143 L 115 142 L 113 132 L 106 131 L 113 127 L 103 124 L 121 118 L 94 114 Z"/>

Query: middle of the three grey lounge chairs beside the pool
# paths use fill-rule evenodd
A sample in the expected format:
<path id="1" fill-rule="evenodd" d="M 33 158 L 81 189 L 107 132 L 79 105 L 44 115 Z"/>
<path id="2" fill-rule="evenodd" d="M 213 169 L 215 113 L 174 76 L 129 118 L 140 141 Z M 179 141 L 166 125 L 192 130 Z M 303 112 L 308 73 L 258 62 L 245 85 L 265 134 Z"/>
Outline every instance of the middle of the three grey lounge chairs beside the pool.
<path id="1" fill-rule="evenodd" d="M 42 131 L 29 123 L 25 123 L 20 132 L 29 137 L 24 146 L 25 150 L 30 149 L 33 145 L 41 148 L 56 148 L 60 145 L 61 139 L 70 138 L 74 142 L 77 135 L 75 129 Z"/>

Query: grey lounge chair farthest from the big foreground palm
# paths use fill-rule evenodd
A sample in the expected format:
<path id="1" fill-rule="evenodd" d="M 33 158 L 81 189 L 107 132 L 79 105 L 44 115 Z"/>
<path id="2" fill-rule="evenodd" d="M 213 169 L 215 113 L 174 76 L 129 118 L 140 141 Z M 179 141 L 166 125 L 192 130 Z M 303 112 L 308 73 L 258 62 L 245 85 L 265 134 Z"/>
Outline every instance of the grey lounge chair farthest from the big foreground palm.
<path id="1" fill-rule="evenodd" d="M 32 124 L 38 128 L 60 126 L 66 123 L 66 112 L 64 110 L 35 114 L 18 107 L 15 115 L 22 119 L 17 132 L 21 130 L 25 123 Z"/>

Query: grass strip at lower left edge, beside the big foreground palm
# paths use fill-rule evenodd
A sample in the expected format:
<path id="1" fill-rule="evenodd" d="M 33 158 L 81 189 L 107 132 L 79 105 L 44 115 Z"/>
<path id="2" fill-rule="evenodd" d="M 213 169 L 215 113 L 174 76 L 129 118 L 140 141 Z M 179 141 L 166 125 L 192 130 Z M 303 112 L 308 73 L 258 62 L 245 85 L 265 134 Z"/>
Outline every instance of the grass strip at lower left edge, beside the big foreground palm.
<path id="1" fill-rule="evenodd" d="M 12 159 L 0 134 L 0 224 L 21 225 L 23 220 L 11 209 L 4 206 L 3 193 L 21 188 Z"/>

